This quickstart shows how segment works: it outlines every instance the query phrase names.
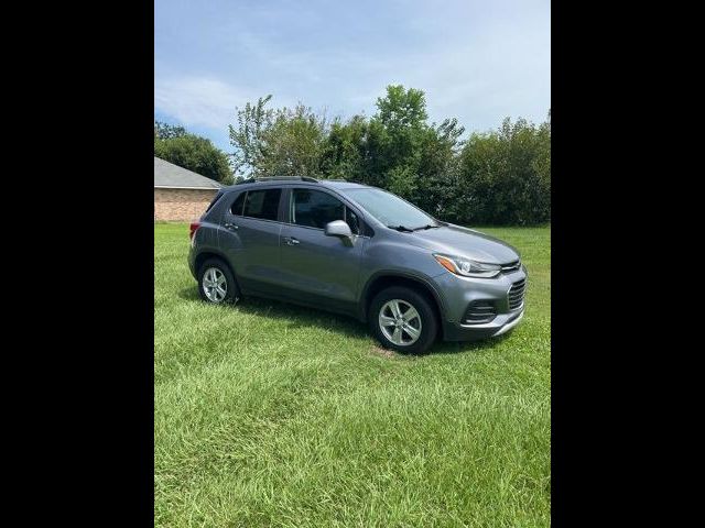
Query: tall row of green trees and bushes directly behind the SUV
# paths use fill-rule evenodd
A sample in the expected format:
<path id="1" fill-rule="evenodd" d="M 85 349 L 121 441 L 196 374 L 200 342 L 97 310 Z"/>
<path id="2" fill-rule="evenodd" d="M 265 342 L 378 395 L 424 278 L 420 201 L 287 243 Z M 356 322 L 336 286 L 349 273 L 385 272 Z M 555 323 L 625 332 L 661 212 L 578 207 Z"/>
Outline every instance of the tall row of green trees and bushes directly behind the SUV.
<path id="1" fill-rule="evenodd" d="M 497 130 L 463 140 L 457 119 L 429 122 L 425 95 L 414 88 L 389 86 L 373 116 L 347 120 L 302 103 L 270 108 L 271 99 L 236 108 L 231 168 L 214 179 L 344 178 L 388 189 L 453 223 L 551 220 L 550 112 L 538 125 L 507 118 Z M 156 135 L 155 127 L 155 152 Z"/>

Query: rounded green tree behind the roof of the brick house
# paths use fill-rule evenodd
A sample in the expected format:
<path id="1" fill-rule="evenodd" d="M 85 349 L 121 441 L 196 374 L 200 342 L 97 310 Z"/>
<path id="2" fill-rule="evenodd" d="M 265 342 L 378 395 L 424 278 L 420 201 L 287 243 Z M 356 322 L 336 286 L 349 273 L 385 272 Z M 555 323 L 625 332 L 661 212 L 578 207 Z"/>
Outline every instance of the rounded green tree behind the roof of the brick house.
<path id="1" fill-rule="evenodd" d="M 232 183 L 227 154 L 210 140 L 189 134 L 182 127 L 154 123 L 154 155 L 216 182 Z"/>

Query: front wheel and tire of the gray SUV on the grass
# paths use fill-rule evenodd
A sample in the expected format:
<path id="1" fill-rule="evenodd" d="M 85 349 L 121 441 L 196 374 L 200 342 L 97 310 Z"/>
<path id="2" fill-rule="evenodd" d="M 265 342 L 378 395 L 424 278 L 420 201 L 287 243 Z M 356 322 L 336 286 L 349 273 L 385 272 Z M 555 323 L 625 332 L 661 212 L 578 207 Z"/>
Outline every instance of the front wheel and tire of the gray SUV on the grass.
<path id="1" fill-rule="evenodd" d="M 401 319 L 394 315 L 395 311 L 402 316 Z M 382 346 L 401 353 L 425 353 L 438 333 L 431 300 L 404 286 L 391 286 L 377 294 L 370 304 L 368 319 L 370 330 Z M 383 322 L 389 324 L 382 326 Z"/>

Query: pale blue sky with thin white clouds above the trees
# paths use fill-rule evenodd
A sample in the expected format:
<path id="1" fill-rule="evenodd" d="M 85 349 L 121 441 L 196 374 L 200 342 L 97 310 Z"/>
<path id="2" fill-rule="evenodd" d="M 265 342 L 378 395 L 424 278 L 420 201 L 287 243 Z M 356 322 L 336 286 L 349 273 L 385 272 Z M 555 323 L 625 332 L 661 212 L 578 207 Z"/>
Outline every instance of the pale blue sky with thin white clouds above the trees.
<path id="1" fill-rule="evenodd" d="M 247 101 L 369 117 L 391 84 L 468 132 L 545 120 L 550 0 L 154 2 L 154 118 L 226 152 Z"/>

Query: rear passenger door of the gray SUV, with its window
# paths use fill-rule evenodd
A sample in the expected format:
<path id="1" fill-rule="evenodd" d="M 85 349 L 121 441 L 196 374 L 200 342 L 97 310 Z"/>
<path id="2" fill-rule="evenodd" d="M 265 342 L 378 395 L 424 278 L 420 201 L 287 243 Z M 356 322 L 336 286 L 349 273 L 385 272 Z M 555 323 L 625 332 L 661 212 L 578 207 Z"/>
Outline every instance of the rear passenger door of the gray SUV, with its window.
<path id="1" fill-rule="evenodd" d="M 218 242 L 235 267 L 245 293 L 271 289 L 282 283 L 279 266 L 281 187 L 243 190 L 230 198 Z"/>

